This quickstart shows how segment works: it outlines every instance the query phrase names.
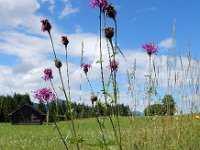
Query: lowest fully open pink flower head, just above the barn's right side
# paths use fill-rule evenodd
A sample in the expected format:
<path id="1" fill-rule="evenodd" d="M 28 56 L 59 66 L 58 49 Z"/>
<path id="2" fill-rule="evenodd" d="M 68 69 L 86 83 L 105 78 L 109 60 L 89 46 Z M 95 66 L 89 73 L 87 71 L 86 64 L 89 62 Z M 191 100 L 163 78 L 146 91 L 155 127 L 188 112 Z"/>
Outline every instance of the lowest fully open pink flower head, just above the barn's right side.
<path id="1" fill-rule="evenodd" d="M 50 88 L 43 88 L 34 92 L 34 97 L 42 103 L 49 104 L 56 100 L 56 95 Z"/>

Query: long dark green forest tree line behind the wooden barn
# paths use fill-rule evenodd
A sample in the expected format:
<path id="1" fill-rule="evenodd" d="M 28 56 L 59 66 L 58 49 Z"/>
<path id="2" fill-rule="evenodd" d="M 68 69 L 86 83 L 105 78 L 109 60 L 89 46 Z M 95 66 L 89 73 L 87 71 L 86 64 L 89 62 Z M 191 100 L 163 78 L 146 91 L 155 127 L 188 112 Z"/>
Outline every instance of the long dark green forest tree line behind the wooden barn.
<path id="1" fill-rule="evenodd" d="M 0 122 L 9 122 L 9 114 L 26 103 L 36 107 L 45 114 L 47 113 L 47 110 L 49 110 L 49 121 L 53 121 L 55 119 L 57 121 L 62 121 L 70 118 L 70 113 L 67 109 L 68 105 L 64 100 L 51 102 L 49 105 L 45 105 L 41 102 L 36 104 L 30 100 L 28 94 L 14 94 L 13 96 L 0 96 Z M 120 116 L 128 116 L 131 114 L 129 106 L 124 104 L 112 106 L 108 104 L 102 104 L 101 102 L 96 102 L 95 105 L 90 106 L 84 103 L 80 104 L 73 102 L 70 105 L 73 108 L 72 114 L 74 115 L 75 119 L 90 118 L 95 117 L 96 115 L 114 115 L 116 113 L 119 113 Z"/>

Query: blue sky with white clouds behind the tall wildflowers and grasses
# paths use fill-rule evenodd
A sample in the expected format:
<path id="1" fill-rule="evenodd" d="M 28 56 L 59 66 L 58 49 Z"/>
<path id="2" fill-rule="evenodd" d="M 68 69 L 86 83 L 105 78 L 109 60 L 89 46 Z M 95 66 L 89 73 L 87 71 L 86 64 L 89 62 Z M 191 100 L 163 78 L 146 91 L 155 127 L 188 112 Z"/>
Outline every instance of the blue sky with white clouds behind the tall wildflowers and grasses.
<path id="1" fill-rule="evenodd" d="M 190 44 L 193 58 L 199 61 L 200 35 L 200 1 L 198 0 L 111 0 L 117 8 L 118 41 L 119 47 L 126 55 L 128 63 L 120 56 L 118 81 L 122 91 L 124 103 L 132 105 L 127 95 L 127 76 L 134 60 L 137 60 L 137 83 L 145 82 L 148 72 L 148 56 L 141 49 L 144 42 L 156 43 L 160 50 L 154 56 L 155 62 L 166 66 L 167 50 L 172 56 L 173 22 L 176 20 L 175 47 L 181 54 L 184 66 L 187 66 L 186 49 Z M 0 0 L 0 71 L 5 74 L 12 90 L 19 93 L 29 93 L 49 86 L 42 82 L 44 68 L 50 67 L 55 71 L 55 86 L 59 89 L 59 80 L 53 64 L 53 56 L 47 33 L 41 32 L 40 20 L 48 18 L 53 26 L 52 35 L 56 52 L 64 61 L 64 50 L 60 43 L 60 36 L 69 37 L 69 61 L 72 92 L 74 99 L 80 94 L 80 51 L 84 42 L 84 61 L 93 65 L 89 77 L 95 86 L 96 92 L 101 89 L 98 60 L 98 31 L 99 11 L 89 7 L 89 0 Z M 112 20 L 107 20 L 113 26 Z M 104 58 L 106 58 L 106 44 L 103 44 Z M 106 62 L 104 60 L 105 72 Z M 195 60 L 194 60 L 195 62 Z M 63 71 L 64 72 L 64 71 Z M 65 72 L 64 72 L 65 73 Z M 2 73 L 1 73 L 2 74 Z M 0 95 L 11 94 L 8 84 L 0 74 Z M 106 73 L 108 75 L 108 73 Z M 166 88 L 166 70 L 162 72 L 162 88 Z M 197 72 L 198 76 L 198 72 Z M 88 102 L 89 86 L 83 77 L 83 102 Z M 41 84 L 42 83 L 42 84 Z M 139 93 L 141 87 L 138 86 Z M 62 93 L 59 92 L 62 98 Z M 163 93 L 161 93 L 162 95 Z M 189 96 L 189 94 L 188 94 Z M 191 95 L 190 95 L 191 96 Z M 138 95 L 142 101 L 143 95 Z M 34 100 L 33 97 L 31 97 Z M 142 102 L 139 108 L 145 106 Z"/>

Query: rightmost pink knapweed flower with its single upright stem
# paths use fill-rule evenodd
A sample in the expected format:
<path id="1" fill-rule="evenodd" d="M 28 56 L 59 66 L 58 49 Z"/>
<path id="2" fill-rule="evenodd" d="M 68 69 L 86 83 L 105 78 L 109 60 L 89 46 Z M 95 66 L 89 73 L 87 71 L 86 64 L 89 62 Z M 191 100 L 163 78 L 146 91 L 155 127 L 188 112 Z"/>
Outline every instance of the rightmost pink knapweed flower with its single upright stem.
<path id="1" fill-rule="evenodd" d="M 149 89 L 148 89 L 148 106 L 150 106 L 150 102 L 151 102 L 151 94 L 152 94 L 152 84 L 151 84 L 151 76 L 152 76 L 152 67 L 151 67 L 151 57 L 153 54 L 157 54 L 158 52 L 158 46 L 154 43 L 144 43 L 142 44 L 142 48 L 146 51 L 146 53 L 148 54 L 149 56 Z M 149 108 L 149 107 L 148 107 Z M 148 110 L 148 115 L 150 113 L 150 110 Z"/>

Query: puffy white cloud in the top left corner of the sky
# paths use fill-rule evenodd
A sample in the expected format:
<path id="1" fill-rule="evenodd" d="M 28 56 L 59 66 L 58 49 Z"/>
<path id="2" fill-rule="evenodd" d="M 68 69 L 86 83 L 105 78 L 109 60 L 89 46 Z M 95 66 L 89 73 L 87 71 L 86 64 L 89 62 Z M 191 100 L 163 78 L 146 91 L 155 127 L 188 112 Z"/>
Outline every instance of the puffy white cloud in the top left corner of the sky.
<path id="1" fill-rule="evenodd" d="M 40 4 L 35 0 L 0 0 L 0 24 L 4 27 L 23 26 L 37 31 L 40 17 L 34 13 L 40 8 Z"/>

